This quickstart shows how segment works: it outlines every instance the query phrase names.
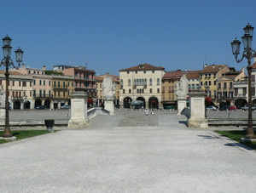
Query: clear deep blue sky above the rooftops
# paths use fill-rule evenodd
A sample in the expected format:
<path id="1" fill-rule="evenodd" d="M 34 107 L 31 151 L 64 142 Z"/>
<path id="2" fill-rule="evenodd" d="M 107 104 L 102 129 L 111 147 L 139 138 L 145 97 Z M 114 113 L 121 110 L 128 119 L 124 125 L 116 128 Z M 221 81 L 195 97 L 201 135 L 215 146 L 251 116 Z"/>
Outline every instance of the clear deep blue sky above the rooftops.
<path id="1" fill-rule="evenodd" d="M 0 37 L 13 39 L 13 60 L 20 46 L 26 66 L 87 64 L 96 75 L 143 63 L 241 70 L 247 60 L 236 63 L 230 43 L 241 41 L 247 22 L 256 26 L 255 0 L 0 0 L 0 7 Z"/>

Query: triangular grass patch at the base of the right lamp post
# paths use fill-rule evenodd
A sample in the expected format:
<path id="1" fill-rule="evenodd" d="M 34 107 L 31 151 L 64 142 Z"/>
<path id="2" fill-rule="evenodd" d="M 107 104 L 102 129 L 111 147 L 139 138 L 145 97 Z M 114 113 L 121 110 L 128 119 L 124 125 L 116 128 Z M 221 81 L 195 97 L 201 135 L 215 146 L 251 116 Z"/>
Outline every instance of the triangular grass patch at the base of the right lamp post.
<path id="1" fill-rule="evenodd" d="M 243 138 L 247 131 L 242 130 L 242 131 L 215 131 L 216 133 L 222 134 L 225 137 L 228 137 L 230 139 L 236 140 L 237 142 L 241 142 L 241 138 Z M 247 147 L 252 148 L 253 150 L 256 150 L 256 141 L 255 142 L 247 142 L 247 143 L 241 143 L 242 145 L 246 145 Z"/>

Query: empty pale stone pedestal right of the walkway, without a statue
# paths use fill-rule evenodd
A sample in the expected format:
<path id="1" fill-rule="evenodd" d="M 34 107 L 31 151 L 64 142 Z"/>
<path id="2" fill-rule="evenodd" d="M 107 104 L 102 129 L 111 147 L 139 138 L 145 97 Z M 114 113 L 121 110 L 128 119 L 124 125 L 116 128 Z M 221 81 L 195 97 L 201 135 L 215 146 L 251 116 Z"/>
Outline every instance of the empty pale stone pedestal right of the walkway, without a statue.
<path id="1" fill-rule="evenodd" d="M 206 93 L 201 90 L 192 91 L 189 94 L 190 100 L 190 118 L 189 128 L 208 128 L 208 122 L 205 117 L 205 98 Z"/>

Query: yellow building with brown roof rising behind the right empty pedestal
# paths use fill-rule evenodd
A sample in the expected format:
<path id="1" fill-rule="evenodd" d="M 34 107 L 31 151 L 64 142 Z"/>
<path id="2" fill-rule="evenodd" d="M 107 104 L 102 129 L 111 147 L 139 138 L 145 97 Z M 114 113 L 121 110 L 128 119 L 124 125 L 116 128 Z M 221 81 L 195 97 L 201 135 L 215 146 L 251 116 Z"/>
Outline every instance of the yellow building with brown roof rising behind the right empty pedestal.
<path id="1" fill-rule="evenodd" d="M 217 79 L 228 72 L 230 72 L 228 65 L 204 65 L 204 69 L 200 72 L 200 86 L 206 90 L 212 102 L 217 101 Z"/>

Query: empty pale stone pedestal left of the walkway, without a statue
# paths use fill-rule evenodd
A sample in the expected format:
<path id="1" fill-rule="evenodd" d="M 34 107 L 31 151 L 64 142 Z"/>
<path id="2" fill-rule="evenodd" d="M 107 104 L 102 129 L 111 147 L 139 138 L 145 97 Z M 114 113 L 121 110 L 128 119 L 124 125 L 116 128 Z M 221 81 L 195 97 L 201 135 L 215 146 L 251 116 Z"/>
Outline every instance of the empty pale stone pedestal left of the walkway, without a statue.
<path id="1" fill-rule="evenodd" d="M 90 124 L 87 118 L 87 94 L 77 91 L 70 95 L 71 98 L 71 119 L 68 128 L 85 128 Z"/>

